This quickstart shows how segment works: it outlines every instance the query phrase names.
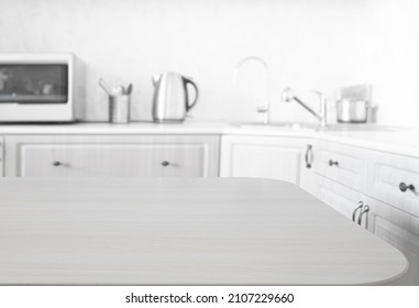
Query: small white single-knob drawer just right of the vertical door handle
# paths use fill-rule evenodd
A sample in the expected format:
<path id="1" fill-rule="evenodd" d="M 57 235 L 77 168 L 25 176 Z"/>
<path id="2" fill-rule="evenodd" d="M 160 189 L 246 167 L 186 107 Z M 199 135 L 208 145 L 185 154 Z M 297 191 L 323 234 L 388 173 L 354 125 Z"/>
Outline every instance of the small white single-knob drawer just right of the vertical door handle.
<path id="1" fill-rule="evenodd" d="M 315 170 L 361 193 L 366 184 L 366 151 L 320 141 L 315 146 Z"/>

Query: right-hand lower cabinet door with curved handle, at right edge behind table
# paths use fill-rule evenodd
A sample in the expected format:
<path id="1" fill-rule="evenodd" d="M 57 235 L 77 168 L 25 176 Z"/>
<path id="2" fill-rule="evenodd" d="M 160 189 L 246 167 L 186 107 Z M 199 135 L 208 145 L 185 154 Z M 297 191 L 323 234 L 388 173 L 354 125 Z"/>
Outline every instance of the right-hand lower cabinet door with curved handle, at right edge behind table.
<path id="1" fill-rule="evenodd" d="M 368 230 L 401 251 L 409 261 L 408 272 L 397 279 L 397 285 L 419 285 L 419 218 L 394 207 L 367 198 Z"/>

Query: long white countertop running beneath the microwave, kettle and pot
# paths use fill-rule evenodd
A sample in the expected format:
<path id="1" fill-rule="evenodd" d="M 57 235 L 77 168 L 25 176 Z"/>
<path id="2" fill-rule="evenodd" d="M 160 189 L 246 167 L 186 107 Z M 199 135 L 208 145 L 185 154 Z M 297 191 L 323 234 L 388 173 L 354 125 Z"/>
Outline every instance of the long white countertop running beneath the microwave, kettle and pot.
<path id="1" fill-rule="evenodd" d="M 232 134 L 284 136 L 333 141 L 364 148 L 419 157 L 419 131 L 404 128 L 383 131 L 361 131 L 359 129 L 353 131 L 315 131 L 286 128 L 240 128 L 225 122 L 192 121 L 177 124 L 157 124 L 153 122 L 132 122 L 129 124 L 110 124 L 106 122 L 1 124 L 0 135 L 8 134 Z"/>

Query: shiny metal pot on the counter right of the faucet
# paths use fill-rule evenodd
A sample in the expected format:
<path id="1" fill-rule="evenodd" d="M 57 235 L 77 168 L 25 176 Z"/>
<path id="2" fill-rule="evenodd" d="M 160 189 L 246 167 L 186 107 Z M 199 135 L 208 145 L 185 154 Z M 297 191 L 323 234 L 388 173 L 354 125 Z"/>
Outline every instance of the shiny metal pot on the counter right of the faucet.
<path id="1" fill-rule="evenodd" d="M 342 98 L 337 101 L 337 118 L 339 123 L 366 123 L 368 102 Z"/>

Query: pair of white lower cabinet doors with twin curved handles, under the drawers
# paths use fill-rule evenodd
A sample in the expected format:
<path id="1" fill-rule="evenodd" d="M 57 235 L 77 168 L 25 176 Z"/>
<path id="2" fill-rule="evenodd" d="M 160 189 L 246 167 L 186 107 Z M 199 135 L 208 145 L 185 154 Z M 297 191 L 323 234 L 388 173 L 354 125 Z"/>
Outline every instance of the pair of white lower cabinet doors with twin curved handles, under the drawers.
<path id="1" fill-rule="evenodd" d="M 419 218 L 322 176 L 317 197 L 348 219 L 400 250 L 409 261 L 394 285 L 419 285 Z"/>

